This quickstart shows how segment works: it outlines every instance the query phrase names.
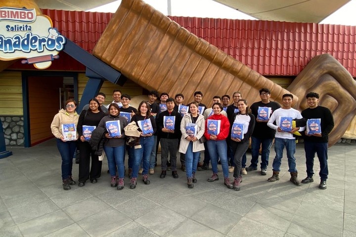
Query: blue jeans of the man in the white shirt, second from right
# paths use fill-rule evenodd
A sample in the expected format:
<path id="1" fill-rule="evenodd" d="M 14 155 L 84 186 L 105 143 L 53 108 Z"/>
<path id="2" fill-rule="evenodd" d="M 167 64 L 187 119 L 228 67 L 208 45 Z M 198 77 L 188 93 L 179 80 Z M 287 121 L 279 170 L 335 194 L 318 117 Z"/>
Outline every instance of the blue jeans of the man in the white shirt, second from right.
<path id="1" fill-rule="evenodd" d="M 280 171 L 280 165 L 282 163 L 283 149 L 284 147 L 287 150 L 288 158 L 288 172 L 297 172 L 296 163 L 295 163 L 295 139 L 274 139 L 274 151 L 276 153 L 275 158 L 273 159 L 273 171 Z"/>

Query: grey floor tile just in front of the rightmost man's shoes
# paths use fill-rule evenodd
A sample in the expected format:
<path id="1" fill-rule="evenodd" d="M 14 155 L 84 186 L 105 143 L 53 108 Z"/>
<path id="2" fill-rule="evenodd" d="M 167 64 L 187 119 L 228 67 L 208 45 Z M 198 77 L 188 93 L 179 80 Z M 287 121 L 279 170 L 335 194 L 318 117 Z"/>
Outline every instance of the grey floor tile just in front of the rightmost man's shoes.
<path id="1" fill-rule="evenodd" d="M 303 201 L 310 204 L 327 207 L 336 211 L 344 211 L 344 199 L 321 195 L 317 193 L 307 193 Z"/>

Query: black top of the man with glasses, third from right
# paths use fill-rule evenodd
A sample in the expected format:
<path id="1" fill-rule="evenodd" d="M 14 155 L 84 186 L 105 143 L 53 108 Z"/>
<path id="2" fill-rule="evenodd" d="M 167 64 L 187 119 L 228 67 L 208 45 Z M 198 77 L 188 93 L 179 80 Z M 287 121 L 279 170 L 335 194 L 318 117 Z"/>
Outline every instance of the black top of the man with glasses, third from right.
<path id="1" fill-rule="evenodd" d="M 269 101 L 269 103 L 265 104 L 262 101 L 255 102 L 251 105 L 251 113 L 257 118 L 258 115 L 258 108 L 259 107 L 269 107 L 271 108 L 271 113 L 272 113 L 280 108 L 280 105 L 277 102 L 274 101 Z M 267 126 L 267 122 L 258 122 L 256 121 L 255 123 L 255 128 L 252 133 L 253 137 L 257 137 L 260 139 L 267 139 L 267 138 L 274 138 L 275 136 L 275 130 Z"/>

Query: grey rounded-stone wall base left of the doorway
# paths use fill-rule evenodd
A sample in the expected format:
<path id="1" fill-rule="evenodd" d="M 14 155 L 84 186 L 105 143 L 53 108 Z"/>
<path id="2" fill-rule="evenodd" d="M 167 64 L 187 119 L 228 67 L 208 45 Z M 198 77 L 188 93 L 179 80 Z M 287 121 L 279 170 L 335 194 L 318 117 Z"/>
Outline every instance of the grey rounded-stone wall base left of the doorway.
<path id="1" fill-rule="evenodd" d="M 24 128 L 22 116 L 1 116 L 6 146 L 24 146 Z"/>

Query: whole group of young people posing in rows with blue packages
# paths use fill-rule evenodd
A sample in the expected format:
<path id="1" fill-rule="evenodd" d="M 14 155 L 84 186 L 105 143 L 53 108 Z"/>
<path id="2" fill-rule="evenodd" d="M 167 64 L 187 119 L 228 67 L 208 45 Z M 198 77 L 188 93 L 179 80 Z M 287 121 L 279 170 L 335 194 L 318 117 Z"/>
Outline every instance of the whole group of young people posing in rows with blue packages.
<path id="1" fill-rule="evenodd" d="M 319 115 L 321 107 L 317 106 L 318 94 L 311 92 L 308 95 L 308 104 L 312 95 L 312 101 L 318 107 L 318 113 L 307 111 L 305 112 L 305 118 L 321 118 L 322 132 L 312 136 L 307 136 L 303 133 L 306 137 L 305 141 L 312 143 L 312 145 L 306 145 L 308 177 L 302 183 L 313 182 L 312 166 L 316 152 L 320 160 L 320 166 L 323 166 L 320 170 L 322 182 L 319 188 L 326 188 L 327 136 L 333 128 L 333 118 L 331 112 L 325 107 L 322 107 L 325 108 L 322 110 L 323 114 Z M 95 98 L 89 101 L 89 105 L 84 107 L 80 115 L 75 111 L 76 102 L 74 100 L 66 101 L 66 108 L 60 110 L 54 116 L 51 124 L 51 130 L 57 138 L 57 147 L 62 157 L 63 189 L 69 190 L 70 185 L 76 184 L 72 177 L 72 158 L 77 142 L 75 139 L 67 141 L 63 136 L 61 125 L 65 123 L 74 123 L 77 126 L 78 138 L 80 139 L 78 146 L 80 149 L 78 186 L 80 187 L 84 186 L 87 180 L 90 180 L 91 183 L 96 183 L 100 177 L 102 162 L 99 160 L 99 155 L 102 154 L 102 150 L 105 151 L 108 159 L 111 187 L 117 187 L 118 190 L 122 190 L 125 186 L 126 169 L 124 163 L 126 151 L 128 153 L 128 174 L 131 178 L 130 188 L 134 189 L 136 187 L 139 173 L 142 174 L 143 183 L 150 184 L 148 173 L 154 173 L 154 166 L 157 162 L 157 144 L 160 143 L 162 151 L 161 178 L 166 177 L 167 170 L 172 170 L 173 178 L 178 178 L 178 151 L 182 164 L 181 168 L 186 172 L 188 188 L 193 188 L 193 183 L 197 182 L 197 169 L 209 169 L 209 162 L 212 164 L 213 175 L 208 181 L 219 180 L 219 160 L 223 169 L 223 184 L 229 189 L 239 191 L 242 174 L 245 171 L 243 163 L 246 163 L 246 151 L 249 147 L 250 138 L 252 140 L 252 159 L 251 165 L 246 170 L 257 170 L 259 150 L 262 145 L 261 174 L 266 175 L 269 149 L 274 137 L 276 157 L 273 161 L 273 175 L 268 181 L 273 182 L 279 179 L 279 167 L 285 146 L 291 181 L 296 185 L 300 185 L 295 167 L 295 138 L 292 133 L 299 130 L 302 131 L 304 127 L 293 128 L 290 132 L 283 132 L 279 127 L 280 116 L 303 118 L 298 111 L 291 108 L 293 95 L 283 95 L 282 108 L 278 103 L 269 101 L 270 91 L 267 88 L 260 90 L 262 100 L 252 104 L 251 108 L 249 108 L 247 101 L 241 98 L 240 92 L 233 93 L 234 103 L 231 105 L 229 105 L 230 97 L 228 95 L 223 95 L 223 100 L 220 96 L 214 96 L 212 108 L 207 108 L 201 103 L 202 97 L 202 92 L 196 91 L 194 93 L 194 101 L 187 105 L 188 113 L 179 113 L 181 111 L 178 110 L 179 105 L 183 105 L 184 96 L 182 94 L 177 94 L 173 99 L 167 93 L 162 93 L 159 97 L 160 103 L 156 103 L 158 98 L 157 91 L 150 91 L 148 101 L 142 101 L 137 110 L 130 106 L 131 97 L 127 94 L 121 94 L 120 90 L 114 90 L 114 101 L 107 108 L 103 106 L 105 95 L 98 93 Z M 202 107 L 205 107 L 205 111 L 200 114 L 199 111 Z M 270 108 L 268 110 L 270 113 L 269 120 L 259 119 L 258 111 L 260 107 Z M 315 108 L 310 107 L 312 111 Z M 120 112 L 130 113 L 131 120 L 121 116 Z M 166 117 L 175 118 L 174 127 L 168 128 L 165 126 Z M 140 127 L 140 122 L 146 119 L 150 120 L 150 125 L 152 126 L 152 132 L 148 134 L 143 133 L 142 127 Z M 107 121 L 112 120 L 119 121 L 120 136 L 111 137 L 107 131 L 105 124 Z M 208 120 L 219 121 L 219 132 L 217 134 L 209 132 L 211 129 L 208 126 Z M 232 125 L 236 123 L 243 124 L 243 137 L 240 137 L 241 139 L 231 138 Z M 83 125 L 96 127 L 92 131 L 89 141 L 83 135 Z M 191 126 L 195 127 L 195 133 L 193 134 L 187 130 Z M 325 144 L 322 144 L 321 147 L 314 144 L 325 142 L 326 147 Z M 204 163 L 201 165 L 199 160 L 203 151 Z M 169 155 L 170 161 L 168 160 Z M 90 156 L 91 168 L 89 167 Z M 233 171 L 234 178 L 232 182 L 229 179 L 229 171 Z M 116 172 L 118 175 L 116 175 Z"/>

